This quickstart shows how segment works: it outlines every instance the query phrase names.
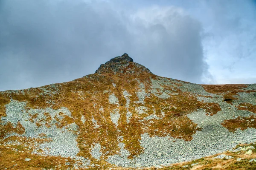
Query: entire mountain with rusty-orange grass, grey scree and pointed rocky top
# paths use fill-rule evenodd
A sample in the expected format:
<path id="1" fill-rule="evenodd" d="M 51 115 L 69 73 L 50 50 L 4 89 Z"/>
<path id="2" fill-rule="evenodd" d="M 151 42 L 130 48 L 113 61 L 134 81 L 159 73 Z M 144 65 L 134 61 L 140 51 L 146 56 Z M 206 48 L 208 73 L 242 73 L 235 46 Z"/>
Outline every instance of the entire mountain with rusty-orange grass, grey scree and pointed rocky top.
<path id="1" fill-rule="evenodd" d="M 0 92 L 0 169 L 256 169 L 256 84 L 159 77 L 128 54 Z"/>

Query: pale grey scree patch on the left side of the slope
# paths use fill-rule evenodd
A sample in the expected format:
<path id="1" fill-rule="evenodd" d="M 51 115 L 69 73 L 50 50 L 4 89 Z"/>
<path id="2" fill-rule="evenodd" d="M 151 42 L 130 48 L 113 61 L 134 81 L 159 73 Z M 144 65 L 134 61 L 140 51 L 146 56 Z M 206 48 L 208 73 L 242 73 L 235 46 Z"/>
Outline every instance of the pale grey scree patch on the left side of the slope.
<path id="1" fill-rule="evenodd" d="M 50 127 L 46 126 L 47 116 L 44 113 L 49 113 L 51 117 Z M 59 120 L 63 119 L 59 113 L 71 117 L 71 113 L 67 108 L 61 108 L 54 110 L 52 108 L 46 109 L 29 109 L 26 110 L 26 102 L 17 102 L 12 100 L 6 105 L 6 117 L 2 117 L 3 124 L 11 122 L 13 125 L 17 125 L 17 122 L 24 127 L 25 133 L 22 135 L 18 134 L 7 134 L 9 136 L 23 136 L 27 138 L 37 139 L 50 139 L 49 142 L 43 142 L 36 144 L 37 148 L 34 153 L 38 153 L 38 150 L 43 150 L 44 155 L 52 156 L 64 156 L 64 157 L 76 157 L 79 152 L 76 142 L 76 132 L 78 132 L 78 126 L 73 123 L 62 128 L 57 128 L 55 123 L 59 123 L 55 117 Z M 35 121 L 31 122 L 29 119 L 32 116 L 36 116 Z M 37 126 L 36 123 L 40 123 L 41 126 Z M 44 134 L 45 136 L 40 136 Z M 41 153 L 40 153 L 41 154 Z"/>

